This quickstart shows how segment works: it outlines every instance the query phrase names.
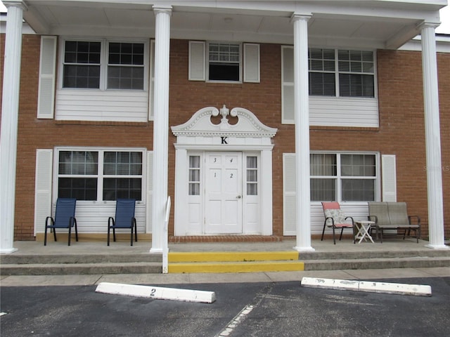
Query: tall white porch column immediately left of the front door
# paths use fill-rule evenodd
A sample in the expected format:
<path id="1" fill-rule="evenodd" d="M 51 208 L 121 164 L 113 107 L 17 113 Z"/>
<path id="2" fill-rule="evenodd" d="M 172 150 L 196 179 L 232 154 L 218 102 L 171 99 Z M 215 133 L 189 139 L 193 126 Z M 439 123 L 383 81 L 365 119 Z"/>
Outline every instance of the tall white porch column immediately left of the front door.
<path id="1" fill-rule="evenodd" d="M 155 91 L 153 120 L 153 215 L 150 253 L 162 253 L 167 202 L 169 150 L 169 44 L 172 6 L 153 7 L 155 12 Z"/>

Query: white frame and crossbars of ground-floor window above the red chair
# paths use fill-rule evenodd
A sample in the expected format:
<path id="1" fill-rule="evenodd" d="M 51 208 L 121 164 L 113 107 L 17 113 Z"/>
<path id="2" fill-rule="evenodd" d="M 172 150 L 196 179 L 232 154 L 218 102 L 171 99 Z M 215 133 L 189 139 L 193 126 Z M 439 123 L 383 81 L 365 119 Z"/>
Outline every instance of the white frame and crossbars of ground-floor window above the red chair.
<path id="1" fill-rule="evenodd" d="M 311 151 L 309 154 L 334 154 L 336 156 L 336 176 L 309 176 L 309 179 L 313 178 L 330 178 L 335 180 L 336 182 L 336 190 L 335 190 L 335 200 L 316 200 L 312 201 L 311 204 L 320 203 L 321 201 L 338 201 L 338 202 L 349 202 L 352 204 L 367 204 L 368 200 L 361 201 L 342 201 L 342 180 L 343 179 L 365 179 L 365 180 L 374 180 L 374 196 L 373 201 L 379 201 L 381 196 L 381 161 L 380 161 L 380 152 L 359 152 L 359 151 L 346 151 L 346 152 L 338 152 L 338 151 Z M 342 176 L 341 173 L 341 160 L 340 157 L 345 154 L 368 154 L 375 156 L 375 176 L 373 177 L 359 177 L 359 176 Z"/>

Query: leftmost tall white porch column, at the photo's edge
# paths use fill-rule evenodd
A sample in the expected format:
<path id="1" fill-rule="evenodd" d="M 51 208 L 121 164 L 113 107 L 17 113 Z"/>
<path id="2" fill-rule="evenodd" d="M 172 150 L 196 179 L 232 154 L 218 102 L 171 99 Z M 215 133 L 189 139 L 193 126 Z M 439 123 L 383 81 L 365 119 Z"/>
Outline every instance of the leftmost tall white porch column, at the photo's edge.
<path id="1" fill-rule="evenodd" d="M 5 62 L 1 98 L 0 131 L 0 253 L 12 253 L 15 211 L 15 159 L 19 118 L 20 59 L 22 20 L 26 9 L 22 1 L 3 1 L 6 17 Z"/>

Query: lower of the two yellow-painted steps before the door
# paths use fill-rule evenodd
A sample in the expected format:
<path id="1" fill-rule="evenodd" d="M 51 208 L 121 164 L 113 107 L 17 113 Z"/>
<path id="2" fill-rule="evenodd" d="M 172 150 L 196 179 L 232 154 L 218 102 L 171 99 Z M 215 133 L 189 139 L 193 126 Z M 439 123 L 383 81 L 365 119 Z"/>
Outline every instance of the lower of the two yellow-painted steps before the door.
<path id="1" fill-rule="evenodd" d="M 222 262 L 222 263 L 169 263 L 169 273 L 203 272 L 291 272 L 303 271 L 300 261 L 260 261 L 260 262 Z"/>

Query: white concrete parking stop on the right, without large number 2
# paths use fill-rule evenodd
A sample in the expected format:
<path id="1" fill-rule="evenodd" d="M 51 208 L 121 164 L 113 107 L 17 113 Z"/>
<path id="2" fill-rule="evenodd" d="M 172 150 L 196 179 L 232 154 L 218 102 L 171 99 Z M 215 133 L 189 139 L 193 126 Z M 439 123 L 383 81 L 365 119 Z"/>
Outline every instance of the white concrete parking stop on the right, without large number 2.
<path id="1" fill-rule="evenodd" d="M 399 295 L 431 296 L 431 286 L 370 281 L 349 281 L 347 279 L 320 279 L 303 277 L 301 286 L 309 288 L 365 291 L 368 293 L 396 293 Z"/>

